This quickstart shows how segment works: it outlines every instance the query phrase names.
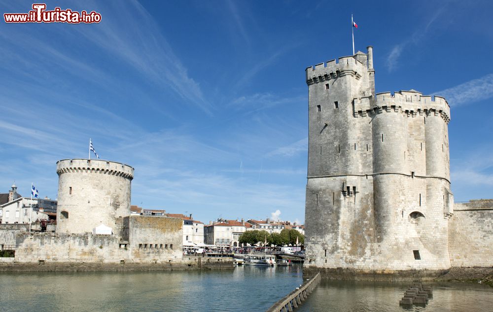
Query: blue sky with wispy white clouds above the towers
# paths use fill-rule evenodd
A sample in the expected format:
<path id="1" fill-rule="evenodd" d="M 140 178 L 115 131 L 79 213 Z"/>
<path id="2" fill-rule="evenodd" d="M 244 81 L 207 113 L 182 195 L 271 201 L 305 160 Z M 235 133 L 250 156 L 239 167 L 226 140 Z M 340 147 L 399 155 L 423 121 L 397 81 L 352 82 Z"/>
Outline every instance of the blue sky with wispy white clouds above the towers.
<path id="1" fill-rule="evenodd" d="M 1 1 L 1 13 L 33 2 Z M 493 198 L 491 1 L 46 1 L 91 25 L 0 26 L 0 192 L 56 198 L 56 161 L 135 168 L 132 203 L 304 221 L 304 69 L 374 46 L 377 92 L 443 95 L 456 201 Z M 351 4 L 351 5 L 350 5 Z"/>

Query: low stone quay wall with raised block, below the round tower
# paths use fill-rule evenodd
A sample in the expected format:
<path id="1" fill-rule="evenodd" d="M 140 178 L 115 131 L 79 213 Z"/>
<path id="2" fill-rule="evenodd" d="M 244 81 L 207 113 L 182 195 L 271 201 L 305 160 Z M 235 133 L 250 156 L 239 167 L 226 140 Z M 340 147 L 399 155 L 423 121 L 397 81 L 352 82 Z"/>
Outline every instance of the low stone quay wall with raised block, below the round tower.
<path id="1" fill-rule="evenodd" d="M 178 218 L 122 218 L 123 236 L 18 233 L 18 262 L 180 263 L 182 221 Z M 126 226 L 126 227 L 125 227 Z"/>

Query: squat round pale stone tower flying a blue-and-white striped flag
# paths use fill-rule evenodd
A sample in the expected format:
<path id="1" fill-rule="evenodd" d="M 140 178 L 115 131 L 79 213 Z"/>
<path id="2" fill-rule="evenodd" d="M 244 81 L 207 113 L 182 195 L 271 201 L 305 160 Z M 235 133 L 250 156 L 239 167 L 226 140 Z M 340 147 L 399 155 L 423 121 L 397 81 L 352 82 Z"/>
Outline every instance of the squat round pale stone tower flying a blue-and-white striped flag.
<path id="1" fill-rule="evenodd" d="M 57 233 L 85 233 L 104 224 L 115 232 L 116 219 L 130 214 L 134 168 L 95 159 L 57 162 Z"/>

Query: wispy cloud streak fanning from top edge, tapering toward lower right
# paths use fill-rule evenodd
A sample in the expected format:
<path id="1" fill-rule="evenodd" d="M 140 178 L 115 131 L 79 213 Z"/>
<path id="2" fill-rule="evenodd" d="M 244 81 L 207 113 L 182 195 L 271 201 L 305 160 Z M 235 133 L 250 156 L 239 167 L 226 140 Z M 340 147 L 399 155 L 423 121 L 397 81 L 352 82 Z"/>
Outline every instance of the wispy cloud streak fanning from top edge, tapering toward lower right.
<path id="1" fill-rule="evenodd" d="M 107 16 L 105 23 L 98 25 L 97 29 L 75 30 L 127 62 L 155 84 L 171 88 L 180 98 L 211 114 L 211 103 L 161 34 L 152 15 L 135 0 L 126 5 L 116 2 L 111 11 L 118 19 Z"/>

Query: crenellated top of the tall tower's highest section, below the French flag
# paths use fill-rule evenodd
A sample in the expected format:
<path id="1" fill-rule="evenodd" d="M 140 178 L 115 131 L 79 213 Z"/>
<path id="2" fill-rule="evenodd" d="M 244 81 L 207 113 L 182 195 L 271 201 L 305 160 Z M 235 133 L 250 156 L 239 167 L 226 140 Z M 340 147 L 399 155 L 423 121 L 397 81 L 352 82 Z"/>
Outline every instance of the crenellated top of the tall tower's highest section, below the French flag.
<path id="1" fill-rule="evenodd" d="M 315 66 L 310 66 L 305 69 L 307 85 L 314 83 L 336 79 L 346 75 L 351 75 L 356 79 L 360 79 L 362 73 L 367 71 L 366 64 L 358 61 L 361 56 L 366 58 L 366 54 L 358 52 L 354 56 L 340 57 L 337 61 L 330 60 L 326 63 L 319 63 Z"/>

